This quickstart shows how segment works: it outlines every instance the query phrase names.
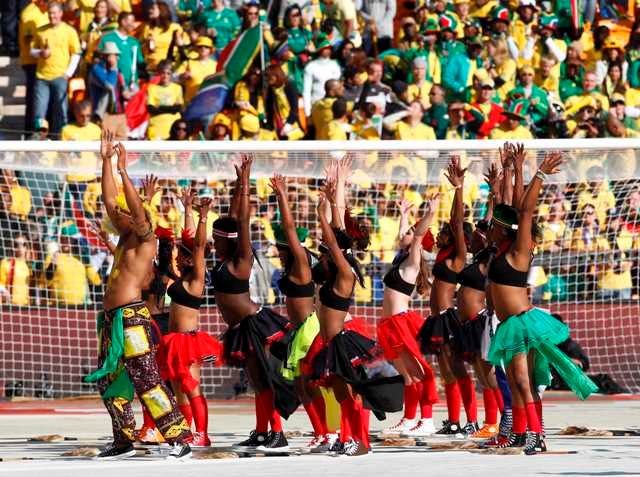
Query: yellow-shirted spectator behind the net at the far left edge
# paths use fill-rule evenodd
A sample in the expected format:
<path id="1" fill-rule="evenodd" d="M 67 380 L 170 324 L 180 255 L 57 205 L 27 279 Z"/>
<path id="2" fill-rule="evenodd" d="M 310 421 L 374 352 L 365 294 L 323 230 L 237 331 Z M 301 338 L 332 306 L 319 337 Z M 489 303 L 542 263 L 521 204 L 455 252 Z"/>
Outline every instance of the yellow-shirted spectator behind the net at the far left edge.
<path id="1" fill-rule="evenodd" d="M 17 235 L 12 248 L 14 256 L 0 261 L 0 304 L 27 306 L 31 267 L 26 237 Z"/>

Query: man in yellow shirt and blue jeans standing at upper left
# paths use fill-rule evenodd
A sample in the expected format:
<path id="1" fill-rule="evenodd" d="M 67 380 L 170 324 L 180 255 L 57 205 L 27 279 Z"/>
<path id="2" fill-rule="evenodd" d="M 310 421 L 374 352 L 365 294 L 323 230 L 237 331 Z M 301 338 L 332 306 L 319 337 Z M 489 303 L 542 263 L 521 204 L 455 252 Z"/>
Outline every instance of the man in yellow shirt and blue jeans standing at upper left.
<path id="1" fill-rule="evenodd" d="M 80 40 L 62 21 L 60 3 L 49 3 L 48 14 L 49 24 L 38 29 L 31 49 L 31 56 L 38 59 L 34 115 L 44 119 L 50 113 L 51 132 L 58 134 L 67 124 L 67 87 L 80 62 Z"/>

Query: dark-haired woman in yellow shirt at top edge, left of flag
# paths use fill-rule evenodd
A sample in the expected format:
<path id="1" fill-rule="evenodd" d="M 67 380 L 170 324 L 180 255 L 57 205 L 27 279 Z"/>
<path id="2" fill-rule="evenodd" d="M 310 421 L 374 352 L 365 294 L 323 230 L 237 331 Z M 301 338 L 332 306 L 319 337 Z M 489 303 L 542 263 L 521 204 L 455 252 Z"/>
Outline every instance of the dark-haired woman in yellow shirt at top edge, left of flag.
<path id="1" fill-rule="evenodd" d="M 172 21 L 166 2 L 153 1 L 145 13 L 146 22 L 140 36 L 142 53 L 149 70 L 155 71 L 161 61 L 173 57 L 172 46 L 184 45 L 184 31 L 180 24 Z"/>

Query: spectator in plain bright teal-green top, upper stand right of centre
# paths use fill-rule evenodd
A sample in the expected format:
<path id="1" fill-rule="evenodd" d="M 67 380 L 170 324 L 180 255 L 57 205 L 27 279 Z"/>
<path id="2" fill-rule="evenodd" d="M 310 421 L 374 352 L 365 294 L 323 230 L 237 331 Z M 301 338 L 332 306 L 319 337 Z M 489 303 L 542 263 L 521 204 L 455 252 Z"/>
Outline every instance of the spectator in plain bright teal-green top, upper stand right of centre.
<path id="1" fill-rule="evenodd" d="M 444 68 L 442 83 L 447 90 L 448 100 L 466 102 L 471 94 L 473 77 L 482 67 L 482 40 L 478 37 L 467 39 L 466 54 L 459 54 L 451 58 Z"/>

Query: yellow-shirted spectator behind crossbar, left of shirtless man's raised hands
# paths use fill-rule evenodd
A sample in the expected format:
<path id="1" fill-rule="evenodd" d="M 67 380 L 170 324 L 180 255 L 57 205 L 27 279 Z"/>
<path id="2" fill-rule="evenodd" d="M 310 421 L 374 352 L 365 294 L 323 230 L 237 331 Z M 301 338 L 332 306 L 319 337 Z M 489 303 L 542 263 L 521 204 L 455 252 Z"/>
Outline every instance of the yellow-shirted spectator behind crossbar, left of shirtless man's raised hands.
<path id="1" fill-rule="evenodd" d="M 73 112 L 76 118 L 75 123 L 67 124 L 62 129 L 61 139 L 63 141 L 98 141 L 100 127 L 91 122 L 93 115 L 91 101 L 84 100 L 74 104 Z M 69 154 L 68 166 L 74 171 L 73 174 L 67 174 L 70 190 L 76 199 L 82 200 L 87 183 L 96 178 L 96 154 L 88 151 Z"/>

